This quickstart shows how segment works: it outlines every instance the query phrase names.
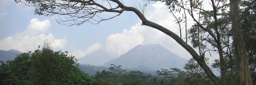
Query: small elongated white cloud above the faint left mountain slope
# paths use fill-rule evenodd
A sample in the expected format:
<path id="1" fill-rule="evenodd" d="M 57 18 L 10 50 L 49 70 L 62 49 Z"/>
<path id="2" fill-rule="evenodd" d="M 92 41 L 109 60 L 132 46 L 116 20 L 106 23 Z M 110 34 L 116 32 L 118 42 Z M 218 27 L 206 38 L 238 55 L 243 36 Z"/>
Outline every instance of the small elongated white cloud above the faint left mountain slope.
<path id="1" fill-rule="evenodd" d="M 81 58 L 81 57 L 84 57 L 92 52 L 95 52 L 96 50 L 99 50 L 100 48 L 102 48 L 102 45 L 100 43 L 95 43 L 93 45 L 91 45 L 90 47 L 88 47 L 86 49 L 86 51 L 82 51 L 82 50 L 77 50 L 75 52 L 71 52 L 71 54 L 73 56 L 75 56 L 75 58 Z"/>

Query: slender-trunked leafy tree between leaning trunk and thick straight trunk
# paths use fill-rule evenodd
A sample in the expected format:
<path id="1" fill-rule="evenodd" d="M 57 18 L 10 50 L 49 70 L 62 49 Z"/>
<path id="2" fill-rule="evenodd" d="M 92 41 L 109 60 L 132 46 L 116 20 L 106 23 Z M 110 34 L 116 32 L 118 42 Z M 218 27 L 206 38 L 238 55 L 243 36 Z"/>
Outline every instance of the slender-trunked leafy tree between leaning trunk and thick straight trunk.
<path id="1" fill-rule="evenodd" d="M 189 30 L 189 39 L 193 48 L 199 49 L 199 56 L 203 60 L 207 51 L 217 51 L 220 57 L 221 82 L 225 83 L 226 63 L 224 61 L 224 51 L 232 43 L 230 42 L 230 17 L 227 12 L 227 0 L 210 0 L 212 10 L 203 8 L 202 0 L 150 0 L 161 1 L 172 11 L 180 12 L 186 10 L 195 21 Z M 186 12 L 184 12 L 186 13 Z M 197 15 L 198 14 L 198 15 Z M 199 18 L 197 18 L 199 17 Z M 229 35 L 228 35 L 229 34 Z M 228 50 L 227 50 L 228 51 Z M 195 59 L 197 61 L 197 59 Z M 200 63 L 199 63 L 200 64 Z M 202 67 L 202 66 L 201 66 Z M 207 68 L 207 67 L 202 67 Z M 206 71 L 207 72 L 207 71 Z M 207 74 L 210 74 L 207 72 Z M 208 75 L 209 76 L 209 75 Z M 209 76 L 210 77 L 210 76 Z M 218 82 L 216 76 L 210 77 L 214 82 Z"/>

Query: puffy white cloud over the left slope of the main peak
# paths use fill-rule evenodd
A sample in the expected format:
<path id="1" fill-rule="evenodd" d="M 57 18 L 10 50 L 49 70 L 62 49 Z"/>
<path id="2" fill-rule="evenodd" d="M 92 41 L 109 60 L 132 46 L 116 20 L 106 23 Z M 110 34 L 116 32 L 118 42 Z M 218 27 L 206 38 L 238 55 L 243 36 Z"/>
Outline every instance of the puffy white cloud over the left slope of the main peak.
<path id="1" fill-rule="evenodd" d="M 107 37 L 106 52 L 120 56 L 138 44 L 143 44 L 143 36 L 137 30 L 123 30 L 123 33 L 111 34 Z"/>

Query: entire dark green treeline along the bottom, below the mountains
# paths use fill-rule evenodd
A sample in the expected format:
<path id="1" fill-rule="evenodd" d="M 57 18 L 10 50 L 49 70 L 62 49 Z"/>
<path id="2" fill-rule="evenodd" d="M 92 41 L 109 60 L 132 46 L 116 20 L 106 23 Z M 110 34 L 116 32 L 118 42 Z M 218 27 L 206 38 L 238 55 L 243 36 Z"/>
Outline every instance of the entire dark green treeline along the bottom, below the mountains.
<path id="1" fill-rule="evenodd" d="M 94 75 L 79 68 L 75 56 L 68 52 L 54 52 L 48 42 L 34 52 L 26 52 L 14 60 L 1 61 L 1 85 L 214 85 L 196 61 L 191 58 L 184 69 L 159 69 L 157 75 L 141 71 L 125 71 L 113 65 L 108 71 Z M 207 62 L 208 59 L 206 58 Z M 217 65 L 218 63 L 215 63 Z M 214 66 L 214 65 L 213 65 Z M 218 67 L 215 67 L 218 68 Z M 234 85 L 232 75 L 227 75 L 227 85 Z M 220 77 L 218 77 L 220 78 Z M 254 77 L 253 77 L 254 78 Z"/>

